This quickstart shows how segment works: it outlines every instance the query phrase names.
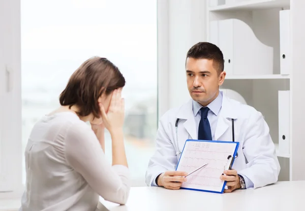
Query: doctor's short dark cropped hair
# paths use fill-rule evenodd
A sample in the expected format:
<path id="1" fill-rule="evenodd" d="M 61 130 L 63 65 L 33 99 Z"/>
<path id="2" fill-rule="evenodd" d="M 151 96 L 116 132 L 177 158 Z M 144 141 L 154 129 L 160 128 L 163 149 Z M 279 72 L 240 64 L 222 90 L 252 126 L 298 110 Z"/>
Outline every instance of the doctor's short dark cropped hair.
<path id="1" fill-rule="evenodd" d="M 193 45 L 187 53 L 187 58 L 206 58 L 213 61 L 213 67 L 218 75 L 224 71 L 224 56 L 216 45 L 208 42 L 199 42 Z"/>

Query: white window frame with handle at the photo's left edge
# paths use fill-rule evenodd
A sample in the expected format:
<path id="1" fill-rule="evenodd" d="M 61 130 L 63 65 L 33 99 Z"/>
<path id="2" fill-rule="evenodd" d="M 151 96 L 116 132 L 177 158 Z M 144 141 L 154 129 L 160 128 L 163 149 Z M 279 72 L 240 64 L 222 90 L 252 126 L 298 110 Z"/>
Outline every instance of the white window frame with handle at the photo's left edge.
<path id="1" fill-rule="evenodd" d="M 22 194 L 20 0 L 0 1 L 0 199 Z"/>

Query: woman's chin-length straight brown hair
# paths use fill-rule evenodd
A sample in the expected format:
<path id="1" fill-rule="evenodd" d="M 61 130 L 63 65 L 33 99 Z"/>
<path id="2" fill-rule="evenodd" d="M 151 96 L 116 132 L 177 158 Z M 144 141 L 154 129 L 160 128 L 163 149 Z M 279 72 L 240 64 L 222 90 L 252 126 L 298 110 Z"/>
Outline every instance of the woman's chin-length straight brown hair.
<path id="1" fill-rule="evenodd" d="M 59 96 L 62 106 L 71 108 L 76 105 L 80 116 L 92 113 L 101 116 L 98 103 L 103 93 L 109 95 L 114 89 L 125 86 L 125 78 L 119 69 L 107 58 L 92 57 L 87 59 L 71 75 L 68 84 Z"/>

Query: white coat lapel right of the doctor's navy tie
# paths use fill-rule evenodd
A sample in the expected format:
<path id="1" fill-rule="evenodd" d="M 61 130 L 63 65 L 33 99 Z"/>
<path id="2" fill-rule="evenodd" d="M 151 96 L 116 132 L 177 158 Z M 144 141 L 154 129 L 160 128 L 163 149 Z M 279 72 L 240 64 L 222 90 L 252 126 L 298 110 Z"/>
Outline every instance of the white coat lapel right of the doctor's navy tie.
<path id="1" fill-rule="evenodd" d="M 231 119 L 236 119 L 236 118 L 237 118 L 236 110 L 232 106 L 230 99 L 228 99 L 223 94 L 222 107 L 219 113 L 218 123 L 215 130 L 215 140 L 218 140 L 228 130 L 228 128 L 232 124 Z"/>

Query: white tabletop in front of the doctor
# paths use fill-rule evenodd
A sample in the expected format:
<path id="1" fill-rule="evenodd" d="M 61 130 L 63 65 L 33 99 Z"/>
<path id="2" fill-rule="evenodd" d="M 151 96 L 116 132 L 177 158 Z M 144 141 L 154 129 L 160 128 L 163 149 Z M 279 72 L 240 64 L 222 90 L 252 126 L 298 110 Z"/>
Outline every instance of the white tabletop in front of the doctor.
<path id="1" fill-rule="evenodd" d="M 180 210 L 305 210 L 305 181 L 278 182 L 258 189 L 216 194 L 159 187 L 131 188 L 126 205 L 101 199 L 102 211 L 180 211 Z M 102 205 L 103 204 L 103 205 Z"/>

